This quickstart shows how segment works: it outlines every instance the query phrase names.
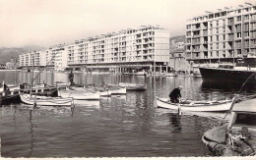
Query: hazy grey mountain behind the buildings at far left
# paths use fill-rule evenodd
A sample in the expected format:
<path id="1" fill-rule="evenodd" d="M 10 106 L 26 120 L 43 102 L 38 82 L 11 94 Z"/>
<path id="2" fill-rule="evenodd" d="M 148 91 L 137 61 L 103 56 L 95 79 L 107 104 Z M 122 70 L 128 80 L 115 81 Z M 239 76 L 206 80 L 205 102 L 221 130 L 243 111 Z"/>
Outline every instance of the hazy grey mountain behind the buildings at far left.
<path id="1" fill-rule="evenodd" d="M 45 50 L 45 47 L 41 47 L 37 45 L 28 45 L 25 47 L 12 47 L 12 48 L 2 47 L 0 48 L 0 63 L 6 63 L 10 61 L 11 58 L 18 60 L 19 55 L 22 53 L 28 53 L 28 52 L 39 51 L 39 50 Z"/>

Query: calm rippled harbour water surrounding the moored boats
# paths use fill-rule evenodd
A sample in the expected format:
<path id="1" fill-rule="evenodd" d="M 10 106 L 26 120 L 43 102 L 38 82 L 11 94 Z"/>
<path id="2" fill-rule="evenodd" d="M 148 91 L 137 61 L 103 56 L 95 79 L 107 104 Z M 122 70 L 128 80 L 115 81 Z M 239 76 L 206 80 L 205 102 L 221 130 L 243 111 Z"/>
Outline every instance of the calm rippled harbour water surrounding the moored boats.
<path id="1" fill-rule="evenodd" d="M 36 75 L 35 73 L 34 75 Z M 31 73 L 0 72 L 0 80 L 28 82 Z M 65 73 L 43 73 L 35 82 L 67 81 Z M 157 107 L 155 96 L 168 97 L 182 84 L 183 98 L 213 100 L 231 98 L 239 88 L 212 88 L 201 79 L 155 78 L 120 75 L 75 74 L 76 83 L 146 83 L 147 91 L 77 101 L 76 107 L 2 106 L 1 154 L 3 157 L 176 157 L 212 156 L 201 137 L 218 126 L 217 114 L 183 113 Z M 241 89 L 240 96 L 255 94 Z"/>

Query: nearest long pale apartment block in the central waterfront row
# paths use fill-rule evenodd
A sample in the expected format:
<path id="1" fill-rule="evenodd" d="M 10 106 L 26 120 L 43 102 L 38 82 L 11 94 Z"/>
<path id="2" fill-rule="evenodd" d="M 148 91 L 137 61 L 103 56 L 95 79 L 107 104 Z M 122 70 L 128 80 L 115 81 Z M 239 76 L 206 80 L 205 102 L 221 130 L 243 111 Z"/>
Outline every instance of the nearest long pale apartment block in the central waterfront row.
<path id="1" fill-rule="evenodd" d="M 89 70 L 158 71 L 169 59 L 169 31 L 143 26 L 101 34 L 67 46 L 67 65 Z"/>

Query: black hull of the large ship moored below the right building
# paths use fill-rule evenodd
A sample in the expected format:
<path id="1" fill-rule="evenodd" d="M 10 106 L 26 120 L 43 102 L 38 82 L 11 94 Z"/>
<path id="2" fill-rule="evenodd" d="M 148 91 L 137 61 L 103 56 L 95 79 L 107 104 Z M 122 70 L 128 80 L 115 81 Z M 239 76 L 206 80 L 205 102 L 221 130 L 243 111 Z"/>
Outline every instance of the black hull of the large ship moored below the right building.
<path id="1" fill-rule="evenodd" d="M 239 71 L 233 69 L 199 68 L 205 82 L 231 82 L 237 84 L 256 84 L 255 71 Z"/>

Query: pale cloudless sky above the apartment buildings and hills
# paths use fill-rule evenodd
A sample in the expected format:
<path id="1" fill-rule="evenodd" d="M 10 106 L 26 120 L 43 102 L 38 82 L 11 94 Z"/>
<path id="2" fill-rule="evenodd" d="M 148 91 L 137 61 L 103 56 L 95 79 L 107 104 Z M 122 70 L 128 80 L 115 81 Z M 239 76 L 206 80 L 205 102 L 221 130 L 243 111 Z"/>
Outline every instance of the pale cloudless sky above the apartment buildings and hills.
<path id="1" fill-rule="evenodd" d="M 186 20 L 255 0 L 0 0 L 0 47 L 72 43 L 160 25 L 184 35 Z"/>

